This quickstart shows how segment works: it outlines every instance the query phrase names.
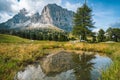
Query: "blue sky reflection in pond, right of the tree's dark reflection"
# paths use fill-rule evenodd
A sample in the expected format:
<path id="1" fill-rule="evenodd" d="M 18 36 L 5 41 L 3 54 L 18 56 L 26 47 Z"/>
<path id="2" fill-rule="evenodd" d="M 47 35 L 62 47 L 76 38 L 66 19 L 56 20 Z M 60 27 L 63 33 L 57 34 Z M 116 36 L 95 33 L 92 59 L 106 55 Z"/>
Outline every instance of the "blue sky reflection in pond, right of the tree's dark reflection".
<path id="1" fill-rule="evenodd" d="M 92 79 L 97 80 L 100 77 L 100 72 L 106 70 L 112 63 L 112 60 L 106 56 L 95 55 L 95 59 L 91 60 L 94 64 L 94 69 L 91 71 Z"/>

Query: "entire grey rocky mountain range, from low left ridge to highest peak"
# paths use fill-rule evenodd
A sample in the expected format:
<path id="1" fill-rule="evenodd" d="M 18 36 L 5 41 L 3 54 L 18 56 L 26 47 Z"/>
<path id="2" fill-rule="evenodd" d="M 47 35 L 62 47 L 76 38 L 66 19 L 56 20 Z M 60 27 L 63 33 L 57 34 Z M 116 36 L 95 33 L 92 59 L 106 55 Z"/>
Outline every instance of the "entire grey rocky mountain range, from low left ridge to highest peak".
<path id="1" fill-rule="evenodd" d="M 71 31 L 73 26 L 74 12 L 68 11 L 56 4 L 48 4 L 44 7 L 41 15 L 36 12 L 28 15 L 26 9 L 20 10 L 13 18 L 1 23 L 0 28 L 28 29 L 41 27 L 57 27 L 65 31 Z"/>

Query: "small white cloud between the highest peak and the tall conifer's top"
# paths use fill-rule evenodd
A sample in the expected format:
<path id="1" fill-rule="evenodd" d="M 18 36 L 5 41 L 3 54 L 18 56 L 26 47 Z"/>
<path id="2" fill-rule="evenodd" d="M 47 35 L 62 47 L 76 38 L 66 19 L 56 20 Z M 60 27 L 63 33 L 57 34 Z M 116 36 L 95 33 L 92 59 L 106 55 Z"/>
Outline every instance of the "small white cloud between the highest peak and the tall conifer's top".
<path id="1" fill-rule="evenodd" d="M 70 2 L 66 2 L 64 5 L 64 8 L 67 8 L 68 10 L 72 10 L 72 11 L 76 12 L 77 8 L 80 6 L 81 6 L 81 3 L 72 4 Z"/>

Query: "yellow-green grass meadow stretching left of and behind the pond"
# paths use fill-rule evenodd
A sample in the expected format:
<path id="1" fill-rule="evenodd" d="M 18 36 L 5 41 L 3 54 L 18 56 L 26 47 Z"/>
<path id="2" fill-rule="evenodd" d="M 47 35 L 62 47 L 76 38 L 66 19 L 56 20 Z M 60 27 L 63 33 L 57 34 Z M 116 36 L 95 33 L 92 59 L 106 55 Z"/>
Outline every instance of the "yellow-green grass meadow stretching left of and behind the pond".
<path id="1" fill-rule="evenodd" d="M 12 80 L 15 72 L 22 68 L 19 64 L 35 61 L 48 53 L 68 51 L 93 51 L 120 56 L 120 43 L 70 43 L 54 41 L 34 41 L 29 43 L 0 43 L 0 79 Z M 4 75 L 3 75 L 4 73 Z M 12 73 L 11 75 L 9 73 Z M 6 76 L 7 75 L 7 76 Z"/>

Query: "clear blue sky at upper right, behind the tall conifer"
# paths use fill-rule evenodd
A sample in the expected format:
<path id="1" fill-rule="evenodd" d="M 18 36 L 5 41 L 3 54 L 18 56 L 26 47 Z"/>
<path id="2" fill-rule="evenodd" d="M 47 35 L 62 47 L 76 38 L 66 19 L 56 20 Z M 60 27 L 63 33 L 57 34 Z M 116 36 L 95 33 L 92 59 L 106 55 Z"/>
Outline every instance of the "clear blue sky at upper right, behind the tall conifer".
<path id="1" fill-rule="evenodd" d="M 84 0 L 64 0 L 62 3 L 83 4 Z M 87 0 L 93 10 L 93 19 L 97 28 L 107 29 L 120 23 L 120 0 Z"/>

